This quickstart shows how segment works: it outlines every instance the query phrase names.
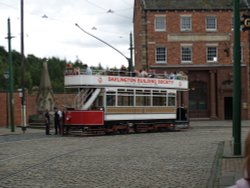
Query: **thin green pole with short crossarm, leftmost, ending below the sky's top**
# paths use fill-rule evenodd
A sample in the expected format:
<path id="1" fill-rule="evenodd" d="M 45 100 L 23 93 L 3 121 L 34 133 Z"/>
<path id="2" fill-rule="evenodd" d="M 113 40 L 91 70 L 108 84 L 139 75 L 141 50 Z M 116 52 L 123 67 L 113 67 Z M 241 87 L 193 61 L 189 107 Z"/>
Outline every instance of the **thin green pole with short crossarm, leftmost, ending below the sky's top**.
<path id="1" fill-rule="evenodd" d="M 10 124 L 11 132 L 15 132 L 15 120 L 14 120 L 14 99 L 13 99 L 13 63 L 12 63 L 12 50 L 11 50 L 11 30 L 10 30 L 10 18 L 8 18 L 8 46 L 9 46 L 9 79 L 10 79 Z"/>

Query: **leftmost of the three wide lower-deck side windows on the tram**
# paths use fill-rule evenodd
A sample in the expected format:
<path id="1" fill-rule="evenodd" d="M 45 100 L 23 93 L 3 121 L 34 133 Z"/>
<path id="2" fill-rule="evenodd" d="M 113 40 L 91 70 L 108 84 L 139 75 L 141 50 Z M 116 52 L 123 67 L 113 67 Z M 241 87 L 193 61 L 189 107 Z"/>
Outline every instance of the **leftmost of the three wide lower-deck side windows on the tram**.
<path id="1" fill-rule="evenodd" d="M 133 90 L 118 90 L 118 106 L 134 106 Z"/>

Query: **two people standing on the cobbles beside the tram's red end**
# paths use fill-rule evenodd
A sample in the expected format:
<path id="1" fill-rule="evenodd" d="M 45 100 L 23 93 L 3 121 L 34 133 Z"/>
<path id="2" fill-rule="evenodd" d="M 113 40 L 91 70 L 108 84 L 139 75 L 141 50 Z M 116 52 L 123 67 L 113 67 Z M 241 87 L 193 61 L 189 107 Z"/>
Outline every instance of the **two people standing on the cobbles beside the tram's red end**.
<path id="1" fill-rule="evenodd" d="M 45 119 L 45 134 L 50 135 L 50 114 L 47 109 L 44 113 Z M 62 133 L 62 123 L 63 123 L 63 113 L 57 108 L 54 108 L 54 126 L 55 126 L 55 135 Z"/>

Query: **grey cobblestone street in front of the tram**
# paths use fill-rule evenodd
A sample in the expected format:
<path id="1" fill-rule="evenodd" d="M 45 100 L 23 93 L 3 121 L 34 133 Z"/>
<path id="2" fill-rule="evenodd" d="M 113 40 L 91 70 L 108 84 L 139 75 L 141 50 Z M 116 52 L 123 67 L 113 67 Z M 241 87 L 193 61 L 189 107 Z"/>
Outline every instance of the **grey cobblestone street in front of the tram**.
<path id="1" fill-rule="evenodd" d="M 243 135 L 247 130 L 242 128 Z M 218 144 L 231 135 L 229 127 L 194 126 L 96 137 L 45 136 L 44 131 L 0 136 L 0 185 L 203 188 Z"/>

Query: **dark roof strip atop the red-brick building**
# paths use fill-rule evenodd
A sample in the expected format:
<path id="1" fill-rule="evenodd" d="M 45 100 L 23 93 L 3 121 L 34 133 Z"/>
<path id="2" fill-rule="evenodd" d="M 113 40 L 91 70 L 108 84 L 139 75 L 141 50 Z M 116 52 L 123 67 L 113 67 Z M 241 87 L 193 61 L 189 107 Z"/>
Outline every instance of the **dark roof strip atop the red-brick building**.
<path id="1" fill-rule="evenodd" d="M 145 10 L 228 10 L 233 0 L 142 0 Z M 250 7 L 250 0 L 240 0 L 241 9 Z"/>

